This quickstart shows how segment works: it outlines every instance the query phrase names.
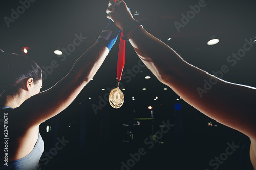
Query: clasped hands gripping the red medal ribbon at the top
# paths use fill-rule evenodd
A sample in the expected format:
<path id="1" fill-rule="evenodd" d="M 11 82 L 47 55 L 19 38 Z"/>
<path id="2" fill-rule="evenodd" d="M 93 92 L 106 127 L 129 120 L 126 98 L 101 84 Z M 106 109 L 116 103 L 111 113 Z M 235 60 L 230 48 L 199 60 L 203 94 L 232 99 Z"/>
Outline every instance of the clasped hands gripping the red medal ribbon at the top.
<path id="1" fill-rule="evenodd" d="M 121 30 L 135 20 L 123 0 L 117 0 L 117 2 L 110 0 L 106 13 L 108 13 L 107 18 L 111 19 Z"/>

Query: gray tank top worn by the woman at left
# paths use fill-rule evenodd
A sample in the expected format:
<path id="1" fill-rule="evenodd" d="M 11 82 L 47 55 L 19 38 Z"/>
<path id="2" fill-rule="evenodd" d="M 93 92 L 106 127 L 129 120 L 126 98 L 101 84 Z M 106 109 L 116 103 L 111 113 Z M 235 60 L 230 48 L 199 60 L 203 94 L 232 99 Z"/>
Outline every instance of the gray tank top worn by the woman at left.
<path id="1" fill-rule="evenodd" d="M 3 112 L 3 109 L 13 109 L 13 108 L 9 106 L 5 106 L 1 108 L 1 112 Z M 5 112 L 7 112 L 7 110 Z M 2 129 L 3 125 L 0 125 L 0 126 Z M 1 160 L 0 169 L 5 169 L 5 170 L 6 169 L 13 169 L 13 170 L 40 169 L 38 164 L 43 152 L 44 152 L 44 141 L 42 140 L 42 137 L 39 133 L 34 149 L 27 156 L 18 160 L 8 161 L 8 166 L 4 165 L 5 162 Z"/>

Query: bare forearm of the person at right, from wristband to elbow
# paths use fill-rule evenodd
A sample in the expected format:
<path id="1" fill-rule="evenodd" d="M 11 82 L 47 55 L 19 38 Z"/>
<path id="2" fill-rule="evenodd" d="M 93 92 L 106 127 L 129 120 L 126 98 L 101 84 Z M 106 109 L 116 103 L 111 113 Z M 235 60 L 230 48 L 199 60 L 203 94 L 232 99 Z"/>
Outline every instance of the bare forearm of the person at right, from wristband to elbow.
<path id="1" fill-rule="evenodd" d="M 140 59 L 162 83 L 175 76 L 177 69 L 184 64 L 184 60 L 172 48 L 143 28 L 135 29 L 127 38 Z"/>

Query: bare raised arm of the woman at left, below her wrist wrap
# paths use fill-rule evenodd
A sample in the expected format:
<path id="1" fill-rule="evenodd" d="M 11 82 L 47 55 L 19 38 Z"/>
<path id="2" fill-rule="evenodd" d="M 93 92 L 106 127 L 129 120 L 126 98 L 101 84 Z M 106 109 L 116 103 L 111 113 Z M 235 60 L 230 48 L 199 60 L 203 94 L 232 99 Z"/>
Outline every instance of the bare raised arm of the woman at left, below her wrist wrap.
<path id="1" fill-rule="evenodd" d="M 77 59 L 64 78 L 52 88 L 23 102 L 17 112 L 24 125 L 38 126 L 68 107 L 96 74 L 108 53 L 108 48 L 101 41 L 95 42 Z"/>

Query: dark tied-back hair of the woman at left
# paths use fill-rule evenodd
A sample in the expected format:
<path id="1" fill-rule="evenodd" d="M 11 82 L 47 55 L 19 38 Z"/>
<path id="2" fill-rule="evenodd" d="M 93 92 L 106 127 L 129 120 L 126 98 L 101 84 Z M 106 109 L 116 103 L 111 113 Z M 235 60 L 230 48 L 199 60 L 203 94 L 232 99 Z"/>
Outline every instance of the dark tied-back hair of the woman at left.
<path id="1" fill-rule="evenodd" d="M 0 102 L 6 95 L 19 95 L 22 82 L 29 78 L 34 83 L 42 78 L 40 66 L 28 57 L 5 54 L 0 50 Z"/>

